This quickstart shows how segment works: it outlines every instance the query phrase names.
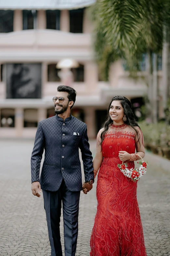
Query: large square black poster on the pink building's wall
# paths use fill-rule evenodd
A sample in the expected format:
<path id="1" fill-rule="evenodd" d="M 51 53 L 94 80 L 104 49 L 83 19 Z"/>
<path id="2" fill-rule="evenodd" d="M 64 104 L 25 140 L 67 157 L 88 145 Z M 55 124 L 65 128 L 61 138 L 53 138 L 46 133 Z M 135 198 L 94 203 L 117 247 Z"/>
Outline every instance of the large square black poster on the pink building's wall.
<path id="1" fill-rule="evenodd" d="M 7 99 L 41 98 L 41 64 L 7 64 Z"/>

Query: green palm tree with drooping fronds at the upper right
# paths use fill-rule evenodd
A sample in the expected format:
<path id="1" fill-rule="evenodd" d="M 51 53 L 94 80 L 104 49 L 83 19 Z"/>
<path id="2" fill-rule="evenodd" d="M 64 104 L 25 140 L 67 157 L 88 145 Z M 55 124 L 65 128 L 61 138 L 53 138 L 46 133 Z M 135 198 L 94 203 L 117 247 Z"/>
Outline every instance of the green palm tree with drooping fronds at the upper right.
<path id="1" fill-rule="evenodd" d="M 162 51 L 165 39 L 167 42 L 170 0 L 98 0 L 92 14 L 96 57 L 105 64 L 105 77 L 108 77 L 110 63 L 122 58 L 127 61 L 131 72 L 136 72 L 142 55 L 147 53 L 149 100 L 151 107 L 157 109 L 158 90 L 153 68 L 154 72 L 157 71 L 157 53 Z M 164 28 L 166 33 L 163 33 Z M 164 76 L 167 77 L 167 73 Z M 168 83 L 167 79 L 165 82 Z M 157 111 L 152 120 L 157 121 Z"/>

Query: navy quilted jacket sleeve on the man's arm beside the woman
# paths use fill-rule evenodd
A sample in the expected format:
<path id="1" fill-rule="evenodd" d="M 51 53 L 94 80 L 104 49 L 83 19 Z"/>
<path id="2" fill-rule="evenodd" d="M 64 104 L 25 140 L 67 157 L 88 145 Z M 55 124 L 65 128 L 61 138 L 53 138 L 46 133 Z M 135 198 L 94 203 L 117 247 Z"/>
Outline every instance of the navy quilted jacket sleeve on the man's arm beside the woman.
<path id="1" fill-rule="evenodd" d="M 89 181 L 91 179 L 94 180 L 94 172 L 93 172 L 93 162 L 92 162 L 92 152 L 90 151 L 89 139 L 87 136 L 87 125 L 85 127 L 84 133 L 82 135 L 79 148 L 81 150 L 81 156 L 83 160 L 84 167 L 84 176 L 85 181 Z"/>

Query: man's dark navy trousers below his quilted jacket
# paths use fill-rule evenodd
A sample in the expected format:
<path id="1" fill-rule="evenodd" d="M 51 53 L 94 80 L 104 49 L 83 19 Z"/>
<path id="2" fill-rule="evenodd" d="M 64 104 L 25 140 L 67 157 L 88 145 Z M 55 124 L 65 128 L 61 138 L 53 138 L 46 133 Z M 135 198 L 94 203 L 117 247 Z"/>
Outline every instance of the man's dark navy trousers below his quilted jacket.
<path id="1" fill-rule="evenodd" d="M 63 203 L 65 256 L 75 256 L 78 237 L 80 191 L 67 189 L 64 179 L 58 191 L 43 190 L 44 208 L 51 245 L 51 256 L 62 256 L 60 216 Z"/>

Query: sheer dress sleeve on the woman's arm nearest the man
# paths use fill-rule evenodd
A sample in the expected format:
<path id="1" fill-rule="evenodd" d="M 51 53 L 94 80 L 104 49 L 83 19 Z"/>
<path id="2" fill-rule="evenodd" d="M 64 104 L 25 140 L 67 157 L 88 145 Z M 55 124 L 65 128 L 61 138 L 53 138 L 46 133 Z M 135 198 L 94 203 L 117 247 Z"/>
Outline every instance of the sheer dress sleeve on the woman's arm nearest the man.
<path id="1" fill-rule="evenodd" d="M 104 128 L 102 128 L 98 134 L 97 134 L 97 144 L 96 144 L 96 154 L 93 160 L 93 168 L 94 168 L 94 178 L 97 175 L 97 172 L 101 166 L 101 163 L 103 161 L 103 154 L 102 154 L 102 147 L 100 145 L 101 143 L 101 133 L 104 130 Z"/>

